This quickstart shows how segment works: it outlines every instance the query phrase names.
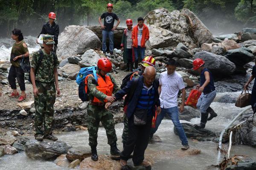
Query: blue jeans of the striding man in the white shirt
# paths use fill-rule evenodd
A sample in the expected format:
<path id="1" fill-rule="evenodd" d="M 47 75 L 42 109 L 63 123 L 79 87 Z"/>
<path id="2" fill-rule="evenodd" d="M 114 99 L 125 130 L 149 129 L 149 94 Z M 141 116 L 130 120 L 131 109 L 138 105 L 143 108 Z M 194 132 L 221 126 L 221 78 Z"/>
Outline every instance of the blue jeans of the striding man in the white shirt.
<path id="1" fill-rule="evenodd" d="M 179 111 L 178 107 L 172 107 L 172 108 L 161 108 L 161 113 L 157 115 L 157 122 L 156 122 L 156 127 L 151 129 L 151 135 L 153 135 L 157 129 L 160 123 L 162 122 L 164 116 L 166 113 L 169 115 L 169 117 L 172 119 L 173 125 L 177 129 L 177 132 L 179 134 L 179 138 L 181 140 L 182 145 L 188 145 L 188 139 L 186 137 L 185 131 L 180 123 L 179 120 Z"/>

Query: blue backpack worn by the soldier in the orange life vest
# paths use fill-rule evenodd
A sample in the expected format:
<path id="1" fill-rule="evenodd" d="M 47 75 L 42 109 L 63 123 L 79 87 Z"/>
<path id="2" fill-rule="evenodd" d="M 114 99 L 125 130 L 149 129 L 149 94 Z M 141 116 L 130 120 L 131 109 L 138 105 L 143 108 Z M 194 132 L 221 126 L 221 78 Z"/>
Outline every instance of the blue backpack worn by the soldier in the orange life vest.
<path id="1" fill-rule="evenodd" d="M 98 68 L 96 66 L 81 68 L 76 77 L 76 83 L 79 85 L 79 87 L 78 87 L 79 98 L 83 102 L 89 101 L 89 97 L 88 97 L 89 90 L 85 91 L 85 86 L 86 86 L 85 82 L 84 82 L 85 78 L 89 74 L 93 74 L 93 77 L 95 78 L 96 83 L 97 83 L 97 81 L 98 81 L 97 74 L 96 74 L 97 69 Z"/>

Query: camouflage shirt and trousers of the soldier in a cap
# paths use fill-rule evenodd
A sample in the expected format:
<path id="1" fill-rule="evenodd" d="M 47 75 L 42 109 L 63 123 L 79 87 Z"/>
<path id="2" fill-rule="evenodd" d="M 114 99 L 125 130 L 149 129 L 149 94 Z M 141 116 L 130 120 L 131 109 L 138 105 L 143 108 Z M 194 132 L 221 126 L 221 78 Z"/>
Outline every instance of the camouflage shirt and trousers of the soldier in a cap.
<path id="1" fill-rule="evenodd" d="M 40 65 L 38 65 L 39 58 L 37 51 L 31 61 L 31 67 L 38 69 L 35 75 L 35 84 L 38 88 L 38 97 L 35 97 L 35 137 L 39 134 L 44 136 L 52 134 L 53 105 L 56 98 L 54 68 L 58 66 L 58 59 L 52 53 L 48 55 L 44 52 Z M 43 123 L 44 131 L 41 130 Z"/>

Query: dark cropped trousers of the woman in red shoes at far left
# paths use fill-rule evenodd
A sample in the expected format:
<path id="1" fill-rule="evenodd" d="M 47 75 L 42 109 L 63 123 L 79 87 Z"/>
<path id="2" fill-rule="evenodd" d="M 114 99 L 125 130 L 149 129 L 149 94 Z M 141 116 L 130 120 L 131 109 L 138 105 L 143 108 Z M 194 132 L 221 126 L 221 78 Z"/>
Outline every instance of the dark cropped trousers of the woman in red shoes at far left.
<path id="1" fill-rule="evenodd" d="M 20 67 L 15 67 L 12 65 L 8 75 L 9 85 L 11 86 L 12 89 L 17 89 L 16 78 L 20 86 L 20 90 L 25 91 L 26 88 L 25 88 L 25 81 L 24 81 L 24 72 Z"/>

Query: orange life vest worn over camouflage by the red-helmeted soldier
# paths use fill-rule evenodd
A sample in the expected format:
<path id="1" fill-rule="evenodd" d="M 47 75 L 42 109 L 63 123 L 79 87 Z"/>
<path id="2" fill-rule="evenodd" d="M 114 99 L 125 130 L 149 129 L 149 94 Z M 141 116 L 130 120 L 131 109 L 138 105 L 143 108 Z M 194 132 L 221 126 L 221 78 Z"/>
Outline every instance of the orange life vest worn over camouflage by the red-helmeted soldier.
<path id="1" fill-rule="evenodd" d="M 92 74 L 89 74 L 87 75 L 87 77 L 85 78 L 85 92 L 87 93 L 87 90 L 88 90 L 88 77 L 89 76 L 92 76 Z M 114 88 L 114 85 L 113 85 L 113 82 L 111 81 L 111 78 L 107 75 L 105 75 L 105 80 L 99 76 L 97 74 L 97 77 L 98 77 L 98 86 L 96 86 L 97 90 L 98 91 L 101 91 L 102 93 L 106 94 L 107 96 L 111 96 L 112 93 L 113 93 L 113 88 Z M 101 102 L 99 99 L 97 99 L 96 97 L 93 98 L 92 102 Z M 108 102 L 106 99 L 104 100 L 104 102 Z"/>

